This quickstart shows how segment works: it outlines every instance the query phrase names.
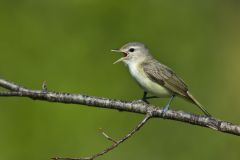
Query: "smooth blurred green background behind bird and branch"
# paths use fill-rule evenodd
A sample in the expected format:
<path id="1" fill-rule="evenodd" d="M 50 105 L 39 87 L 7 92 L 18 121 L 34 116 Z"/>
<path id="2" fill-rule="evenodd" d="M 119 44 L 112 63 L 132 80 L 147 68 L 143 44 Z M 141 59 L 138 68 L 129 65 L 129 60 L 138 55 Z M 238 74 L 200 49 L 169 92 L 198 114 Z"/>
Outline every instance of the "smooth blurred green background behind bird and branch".
<path id="1" fill-rule="evenodd" d="M 30 88 L 136 100 L 142 90 L 111 54 L 147 44 L 214 116 L 240 123 L 240 3 L 237 0 L 1 0 L 0 75 Z M 164 105 L 166 99 L 151 100 Z M 175 110 L 201 114 L 182 99 Z M 0 98 L 0 159 L 87 156 L 143 115 L 80 105 Z M 240 139 L 152 119 L 104 160 L 239 160 Z"/>

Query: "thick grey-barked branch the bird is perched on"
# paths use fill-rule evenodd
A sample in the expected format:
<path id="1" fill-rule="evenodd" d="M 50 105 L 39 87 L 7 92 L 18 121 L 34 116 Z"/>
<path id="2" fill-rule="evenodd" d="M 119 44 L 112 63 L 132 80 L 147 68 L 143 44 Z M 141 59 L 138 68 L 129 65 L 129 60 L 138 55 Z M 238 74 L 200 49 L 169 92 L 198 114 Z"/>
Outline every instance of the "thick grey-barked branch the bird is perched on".
<path id="1" fill-rule="evenodd" d="M 82 104 L 99 108 L 116 109 L 127 112 L 147 114 L 153 112 L 153 117 L 163 118 L 162 109 L 146 103 L 134 103 L 109 98 L 100 98 L 94 96 L 86 96 L 81 94 L 59 93 L 43 90 L 31 90 L 19 86 L 13 82 L 0 78 L 0 86 L 10 92 L 0 92 L 2 97 L 29 97 L 34 100 L 43 100 L 58 103 Z M 182 111 L 168 110 L 164 119 L 171 119 L 180 122 L 190 123 L 202 127 L 207 127 L 220 132 L 225 132 L 240 136 L 240 125 L 235 125 L 227 121 L 223 121 L 214 117 L 206 117 L 204 115 L 195 115 Z"/>

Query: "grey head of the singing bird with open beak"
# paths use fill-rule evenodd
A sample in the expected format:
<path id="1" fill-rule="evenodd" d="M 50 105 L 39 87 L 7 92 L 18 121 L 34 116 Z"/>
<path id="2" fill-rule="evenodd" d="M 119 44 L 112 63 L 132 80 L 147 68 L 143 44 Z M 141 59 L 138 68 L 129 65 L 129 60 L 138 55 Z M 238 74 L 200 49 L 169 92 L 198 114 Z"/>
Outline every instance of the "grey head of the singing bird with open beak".
<path id="1" fill-rule="evenodd" d="M 123 62 L 127 65 L 130 63 L 138 63 L 151 57 L 148 48 L 140 42 L 130 42 L 123 45 L 120 49 L 113 49 L 113 52 L 123 53 L 123 57 L 118 59 L 114 64 Z"/>

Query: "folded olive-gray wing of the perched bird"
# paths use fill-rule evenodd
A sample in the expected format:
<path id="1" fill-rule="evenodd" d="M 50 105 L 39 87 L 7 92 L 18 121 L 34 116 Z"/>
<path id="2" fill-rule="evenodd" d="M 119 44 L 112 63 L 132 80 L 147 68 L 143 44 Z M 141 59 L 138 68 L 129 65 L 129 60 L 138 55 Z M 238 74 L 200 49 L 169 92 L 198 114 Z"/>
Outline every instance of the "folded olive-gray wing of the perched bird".
<path id="1" fill-rule="evenodd" d="M 144 63 L 143 70 L 154 82 L 166 87 L 173 93 L 188 98 L 187 85 L 169 67 L 158 61 L 152 61 L 150 63 Z"/>

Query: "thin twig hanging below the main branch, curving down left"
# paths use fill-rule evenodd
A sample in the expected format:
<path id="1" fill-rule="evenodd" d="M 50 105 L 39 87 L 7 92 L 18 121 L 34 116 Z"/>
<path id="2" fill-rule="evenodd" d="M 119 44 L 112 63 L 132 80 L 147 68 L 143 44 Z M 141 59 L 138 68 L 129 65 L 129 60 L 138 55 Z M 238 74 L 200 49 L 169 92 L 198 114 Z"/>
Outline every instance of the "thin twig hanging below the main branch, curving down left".
<path id="1" fill-rule="evenodd" d="M 145 118 L 131 131 L 129 132 L 127 135 L 125 135 L 124 137 L 122 137 L 121 139 L 119 139 L 118 141 L 114 141 L 114 143 L 104 149 L 103 151 L 101 152 L 98 152 L 90 157 L 83 157 L 83 158 L 61 158 L 61 157 L 56 157 L 56 158 L 53 158 L 54 160 L 93 160 L 99 156 L 102 156 L 106 153 L 108 153 L 109 151 L 115 149 L 118 145 L 120 145 L 121 143 L 123 143 L 124 141 L 126 141 L 127 139 L 129 139 L 132 135 L 134 135 L 139 129 L 141 129 L 144 124 L 146 124 L 146 122 L 152 117 L 152 113 L 149 112 L 148 114 L 146 114 Z M 107 136 L 109 137 L 109 136 Z M 107 138 L 108 139 L 108 138 Z M 108 139 L 109 140 L 109 139 Z"/>

